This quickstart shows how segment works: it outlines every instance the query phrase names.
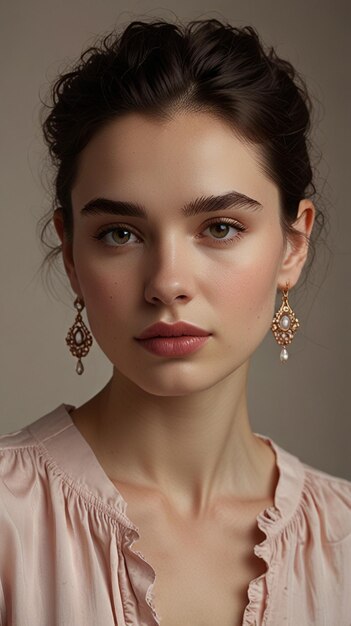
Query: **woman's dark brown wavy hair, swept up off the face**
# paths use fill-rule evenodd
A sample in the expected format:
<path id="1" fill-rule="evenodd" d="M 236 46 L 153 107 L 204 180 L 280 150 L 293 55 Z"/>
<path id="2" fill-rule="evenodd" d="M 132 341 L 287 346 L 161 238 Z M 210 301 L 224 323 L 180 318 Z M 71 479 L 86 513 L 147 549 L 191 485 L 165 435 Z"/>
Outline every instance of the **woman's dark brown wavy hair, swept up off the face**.
<path id="1" fill-rule="evenodd" d="M 280 191 L 286 236 L 294 235 L 299 201 L 315 193 L 310 97 L 293 66 L 266 50 L 251 26 L 133 21 L 86 50 L 51 95 L 43 130 L 56 171 L 54 206 L 62 208 L 71 238 L 78 156 L 104 124 L 130 112 L 160 120 L 182 110 L 210 112 L 258 145 L 262 167 Z M 319 210 L 316 223 L 321 230 Z M 54 246 L 47 256 L 60 250 Z"/>

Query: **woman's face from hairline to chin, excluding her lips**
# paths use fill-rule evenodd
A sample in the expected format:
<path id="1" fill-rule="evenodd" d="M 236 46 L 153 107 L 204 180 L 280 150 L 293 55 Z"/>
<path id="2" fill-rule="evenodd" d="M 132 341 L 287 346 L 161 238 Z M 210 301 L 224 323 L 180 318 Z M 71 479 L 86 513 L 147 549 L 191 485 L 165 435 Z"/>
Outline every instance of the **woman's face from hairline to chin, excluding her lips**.
<path id="1" fill-rule="evenodd" d="M 212 202 L 200 211 L 205 197 L 229 193 L 220 210 Z M 113 214 L 117 201 L 146 217 Z M 66 268 L 121 375 L 152 394 L 185 395 L 248 361 L 287 279 L 278 189 L 253 147 L 210 114 L 167 122 L 130 114 L 81 153 L 72 203 Z M 199 210 L 186 215 L 190 204 Z M 179 320 L 211 334 L 192 354 L 158 356 L 135 339 Z"/>

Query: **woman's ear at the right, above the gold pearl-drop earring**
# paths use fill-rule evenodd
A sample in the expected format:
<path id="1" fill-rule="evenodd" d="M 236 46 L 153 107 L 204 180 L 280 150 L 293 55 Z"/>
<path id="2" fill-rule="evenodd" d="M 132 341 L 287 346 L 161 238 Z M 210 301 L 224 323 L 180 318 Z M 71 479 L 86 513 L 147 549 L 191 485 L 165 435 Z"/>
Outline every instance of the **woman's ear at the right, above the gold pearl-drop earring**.
<path id="1" fill-rule="evenodd" d="M 294 287 L 299 280 L 307 259 L 315 215 L 316 209 L 313 203 L 307 199 L 301 200 L 296 220 L 292 224 L 296 234 L 289 235 L 278 274 L 278 284 L 281 288 L 285 288 L 287 282 L 290 288 Z"/>

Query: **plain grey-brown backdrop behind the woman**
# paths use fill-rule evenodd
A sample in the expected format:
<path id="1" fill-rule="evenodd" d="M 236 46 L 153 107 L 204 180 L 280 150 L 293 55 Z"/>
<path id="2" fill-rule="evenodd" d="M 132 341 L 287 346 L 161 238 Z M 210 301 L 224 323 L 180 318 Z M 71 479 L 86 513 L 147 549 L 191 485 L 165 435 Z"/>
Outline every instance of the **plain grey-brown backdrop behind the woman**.
<path id="1" fill-rule="evenodd" d="M 1 413 L 14 431 L 61 402 L 81 404 L 107 381 L 99 349 L 75 373 L 65 335 L 72 296 L 56 296 L 39 272 L 36 223 L 50 207 L 39 124 L 40 98 L 58 71 L 96 36 L 131 19 L 217 17 L 251 24 L 302 72 L 321 105 L 314 139 L 317 183 L 328 209 L 327 248 L 291 303 L 301 323 L 286 366 L 271 333 L 255 355 L 249 385 L 255 432 L 271 436 L 304 462 L 351 478 L 350 461 L 350 3 L 345 0 L 14 0 L 1 8 Z M 215 10 L 214 10 L 215 7 Z"/>

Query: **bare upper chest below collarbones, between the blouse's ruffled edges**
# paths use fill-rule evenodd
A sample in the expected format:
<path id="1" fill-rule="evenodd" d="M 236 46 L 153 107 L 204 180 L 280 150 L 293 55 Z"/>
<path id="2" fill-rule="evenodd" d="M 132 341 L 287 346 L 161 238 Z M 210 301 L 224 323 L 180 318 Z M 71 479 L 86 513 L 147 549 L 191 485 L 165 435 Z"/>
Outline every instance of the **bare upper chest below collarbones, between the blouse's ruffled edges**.
<path id="1" fill-rule="evenodd" d="M 119 488 L 119 487 L 118 487 Z M 264 539 L 256 517 L 270 502 L 218 507 L 205 519 L 170 516 L 153 499 L 125 488 L 133 544 L 155 571 L 153 599 L 161 626 L 241 626 L 249 583 L 266 570 L 254 554 Z"/>

